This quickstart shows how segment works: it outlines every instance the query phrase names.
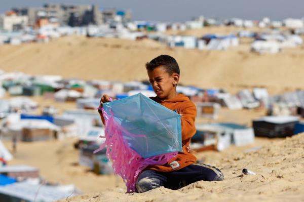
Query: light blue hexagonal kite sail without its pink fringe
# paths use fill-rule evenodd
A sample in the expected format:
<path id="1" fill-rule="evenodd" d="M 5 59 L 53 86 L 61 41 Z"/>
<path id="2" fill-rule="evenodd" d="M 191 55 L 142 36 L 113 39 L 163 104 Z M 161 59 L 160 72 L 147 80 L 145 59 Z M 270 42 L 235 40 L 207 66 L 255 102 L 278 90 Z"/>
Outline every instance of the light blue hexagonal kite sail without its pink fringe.
<path id="1" fill-rule="evenodd" d="M 136 94 L 103 103 L 103 110 L 122 127 L 129 147 L 143 158 L 182 151 L 180 115 Z"/>

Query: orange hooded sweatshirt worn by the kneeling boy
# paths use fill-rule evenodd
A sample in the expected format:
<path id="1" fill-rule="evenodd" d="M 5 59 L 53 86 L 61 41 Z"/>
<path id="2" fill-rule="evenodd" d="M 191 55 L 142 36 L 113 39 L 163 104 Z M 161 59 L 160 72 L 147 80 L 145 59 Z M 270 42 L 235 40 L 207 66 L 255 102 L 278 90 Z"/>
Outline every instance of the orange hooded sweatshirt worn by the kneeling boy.
<path id="1" fill-rule="evenodd" d="M 182 94 L 178 94 L 175 98 L 168 100 L 161 100 L 158 97 L 151 97 L 151 99 L 181 115 L 182 152 L 178 152 L 177 156 L 169 160 L 167 164 L 150 165 L 146 170 L 171 172 L 194 164 L 197 161 L 197 158 L 190 153 L 189 144 L 190 139 L 196 133 L 194 122 L 197 110 L 195 104 Z M 102 122 L 104 123 L 104 117 L 101 111 L 99 111 L 99 113 Z"/>

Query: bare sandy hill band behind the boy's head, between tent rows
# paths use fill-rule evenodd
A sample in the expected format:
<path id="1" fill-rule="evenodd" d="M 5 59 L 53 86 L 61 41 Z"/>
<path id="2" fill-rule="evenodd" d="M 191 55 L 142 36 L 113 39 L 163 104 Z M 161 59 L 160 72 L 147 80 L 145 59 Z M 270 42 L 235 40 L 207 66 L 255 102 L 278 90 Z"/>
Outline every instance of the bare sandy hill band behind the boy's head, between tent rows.
<path id="1" fill-rule="evenodd" d="M 271 93 L 303 87 L 304 48 L 276 55 L 249 52 L 249 45 L 229 51 L 169 49 L 154 41 L 62 37 L 48 44 L 0 46 L 0 69 L 30 74 L 108 80 L 146 79 L 144 64 L 169 54 L 181 68 L 181 83 L 203 88 L 267 87 Z"/>

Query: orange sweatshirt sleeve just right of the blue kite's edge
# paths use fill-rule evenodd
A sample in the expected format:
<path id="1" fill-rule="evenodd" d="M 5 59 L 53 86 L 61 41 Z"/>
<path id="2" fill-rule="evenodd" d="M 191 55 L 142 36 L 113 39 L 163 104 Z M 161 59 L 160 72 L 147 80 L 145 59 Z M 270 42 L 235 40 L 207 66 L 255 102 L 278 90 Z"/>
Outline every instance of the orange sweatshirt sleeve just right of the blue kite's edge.
<path id="1" fill-rule="evenodd" d="M 194 103 L 189 102 L 181 109 L 181 139 L 192 138 L 196 133 L 195 117 L 197 109 Z"/>

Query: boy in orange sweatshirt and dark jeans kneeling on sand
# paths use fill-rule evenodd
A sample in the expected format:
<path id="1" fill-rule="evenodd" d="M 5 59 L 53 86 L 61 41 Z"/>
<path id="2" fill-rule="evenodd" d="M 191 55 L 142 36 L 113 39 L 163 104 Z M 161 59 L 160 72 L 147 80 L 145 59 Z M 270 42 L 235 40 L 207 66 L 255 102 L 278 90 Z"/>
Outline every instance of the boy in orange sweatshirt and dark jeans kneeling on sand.
<path id="1" fill-rule="evenodd" d="M 165 165 L 150 165 L 142 171 L 136 183 L 139 193 L 164 186 L 179 189 L 197 182 L 223 180 L 223 174 L 215 167 L 197 164 L 196 157 L 190 153 L 189 142 L 196 133 L 196 107 L 188 97 L 178 94 L 179 67 L 176 60 L 168 55 L 160 55 L 146 63 L 149 82 L 156 97 L 151 97 L 161 105 L 181 115 L 182 152 Z M 109 96 L 103 95 L 101 102 L 108 102 Z M 103 116 L 101 115 L 102 120 Z"/>

